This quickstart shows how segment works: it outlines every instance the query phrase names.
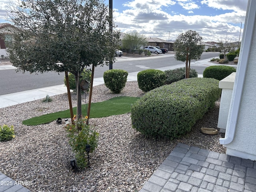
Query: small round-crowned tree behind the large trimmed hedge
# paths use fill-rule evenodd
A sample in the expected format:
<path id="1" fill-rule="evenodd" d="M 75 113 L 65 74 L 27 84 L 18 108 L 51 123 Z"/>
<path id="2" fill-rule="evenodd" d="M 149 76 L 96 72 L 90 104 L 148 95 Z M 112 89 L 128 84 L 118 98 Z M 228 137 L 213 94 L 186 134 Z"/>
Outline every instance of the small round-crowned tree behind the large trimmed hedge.
<path id="1" fill-rule="evenodd" d="M 185 78 L 189 78 L 190 61 L 198 60 L 204 52 L 202 45 L 202 37 L 198 32 L 188 30 L 185 33 L 178 35 L 174 42 L 175 59 L 178 61 L 186 61 Z"/>

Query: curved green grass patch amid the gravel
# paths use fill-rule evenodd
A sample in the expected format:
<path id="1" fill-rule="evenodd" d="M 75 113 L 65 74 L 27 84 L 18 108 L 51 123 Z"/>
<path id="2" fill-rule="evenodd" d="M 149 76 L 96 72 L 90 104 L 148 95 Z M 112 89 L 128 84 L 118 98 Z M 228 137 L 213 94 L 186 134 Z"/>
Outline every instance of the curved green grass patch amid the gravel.
<path id="1" fill-rule="evenodd" d="M 125 114 L 131 111 L 131 104 L 133 104 L 139 97 L 114 97 L 103 102 L 97 102 L 91 104 L 90 109 L 90 118 L 102 118 L 112 115 Z M 87 104 L 88 106 L 88 104 Z M 73 108 L 73 111 L 76 112 L 76 107 Z M 87 115 L 86 104 L 82 105 L 82 114 Z M 55 112 L 51 114 L 45 114 L 38 117 L 33 117 L 27 120 L 24 120 L 22 124 L 24 125 L 40 125 L 52 122 L 58 118 L 70 118 L 70 110 L 64 110 L 60 112 Z"/>

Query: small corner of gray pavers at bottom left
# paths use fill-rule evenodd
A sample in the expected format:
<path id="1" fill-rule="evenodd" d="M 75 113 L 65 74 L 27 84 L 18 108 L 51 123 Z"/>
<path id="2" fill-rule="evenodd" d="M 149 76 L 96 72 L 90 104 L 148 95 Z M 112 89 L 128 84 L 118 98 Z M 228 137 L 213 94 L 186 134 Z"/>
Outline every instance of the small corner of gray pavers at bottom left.
<path id="1" fill-rule="evenodd" d="M 0 172 L 0 192 L 30 192 L 30 190 L 20 185 L 19 181 L 14 181 Z"/>

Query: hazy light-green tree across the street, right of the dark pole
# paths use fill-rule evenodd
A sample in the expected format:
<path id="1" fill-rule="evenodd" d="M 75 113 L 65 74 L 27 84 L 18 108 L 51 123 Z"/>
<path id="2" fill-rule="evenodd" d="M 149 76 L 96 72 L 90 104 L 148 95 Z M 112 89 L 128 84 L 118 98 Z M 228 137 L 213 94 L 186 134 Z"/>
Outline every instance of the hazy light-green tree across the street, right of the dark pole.
<path id="1" fill-rule="evenodd" d="M 127 32 L 122 39 L 122 46 L 132 52 L 134 49 L 140 49 L 140 47 L 146 45 L 146 43 L 146 37 L 136 30 Z"/>

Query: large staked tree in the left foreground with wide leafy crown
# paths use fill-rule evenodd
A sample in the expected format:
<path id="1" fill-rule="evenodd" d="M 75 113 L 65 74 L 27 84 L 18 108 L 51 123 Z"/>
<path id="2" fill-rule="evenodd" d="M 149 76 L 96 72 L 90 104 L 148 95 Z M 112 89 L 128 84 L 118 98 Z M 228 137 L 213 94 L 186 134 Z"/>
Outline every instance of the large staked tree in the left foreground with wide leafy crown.
<path id="1" fill-rule="evenodd" d="M 8 8 L 14 24 L 10 61 L 19 71 L 74 74 L 77 116 L 82 116 L 80 74 L 114 59 L 119 32 L 109 30 L 104 0 L 18 0 Z"/>

